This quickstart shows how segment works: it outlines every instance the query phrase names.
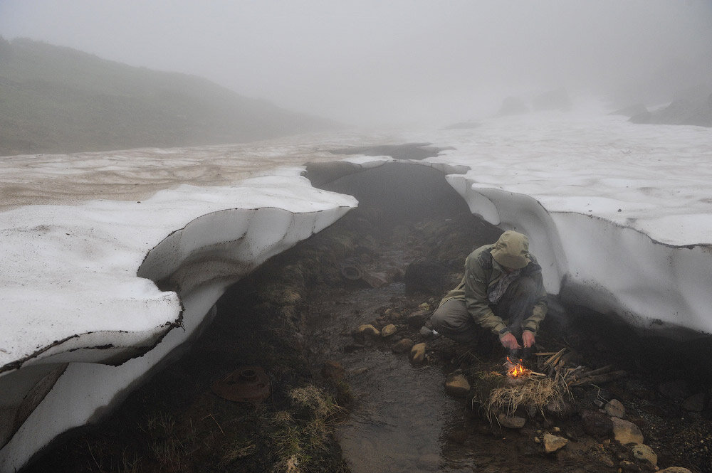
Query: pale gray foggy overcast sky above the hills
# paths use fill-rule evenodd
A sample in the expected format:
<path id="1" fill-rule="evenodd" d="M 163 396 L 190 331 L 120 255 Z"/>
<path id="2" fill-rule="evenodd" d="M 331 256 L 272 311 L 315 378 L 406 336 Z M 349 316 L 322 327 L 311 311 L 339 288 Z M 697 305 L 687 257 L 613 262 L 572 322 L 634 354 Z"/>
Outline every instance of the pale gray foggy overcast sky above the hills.
<path id="1" fill-rule="evenodd" d="M 712 0 L 0 0 L 0 35 L 201 75 L 354 124 L 649 78 L 712 51 Z"/>

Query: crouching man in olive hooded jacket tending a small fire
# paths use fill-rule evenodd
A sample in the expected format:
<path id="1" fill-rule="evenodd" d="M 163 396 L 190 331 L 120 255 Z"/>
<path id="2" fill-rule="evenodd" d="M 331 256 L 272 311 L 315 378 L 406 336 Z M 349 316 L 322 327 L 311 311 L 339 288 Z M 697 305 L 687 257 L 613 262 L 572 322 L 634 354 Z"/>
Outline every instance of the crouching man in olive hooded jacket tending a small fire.
<path id="1" fill-rule="evenodd" d="M 546 316 L 545 297 L 541 267 L 529 253 L 528 238 L 509 230 L 494 245 L 468 255 L 462 282 L 446 294 L 421 333 L 435 331 L 473 344 L 482 327 L 510 351 L 530 348 Z"/>

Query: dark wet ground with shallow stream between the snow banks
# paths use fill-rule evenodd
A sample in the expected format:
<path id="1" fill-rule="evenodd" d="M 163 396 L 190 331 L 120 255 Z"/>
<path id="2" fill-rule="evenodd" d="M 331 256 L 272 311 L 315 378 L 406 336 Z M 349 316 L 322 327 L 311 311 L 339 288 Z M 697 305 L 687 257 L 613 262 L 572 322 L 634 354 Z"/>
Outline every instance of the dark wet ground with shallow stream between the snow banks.
<path id="1" fill-rule="evenodd" d="M 441 174 L 414 167 L 396 193 L 390 169 L 325 185 L 372 198 L 231 287 L 185 356 L 23 471 L 654 471 L 609 434 L 585 432 L 584 413 L 615 398 L 659 467 L 712 472 L 711 408 L 706 399 L 701 411 L 682 407 L 690 395 L 710 392 L 709 339 L 681 344 L 553 298 L 535 351 L 566 349 L 570 367 L 612 365 L 627 376 L 572 388 L 565 413 L 520 410 L 518 429 L 487 420 L 473 394 L 483 373 L 503 370 L 506 353 L 496 340 L 475 347 L 425 340 L 410 316 L 431 313 L 459 281 L 466 255 L 501 230 L 449 195 Z M 362 324 L 397 331 L 355 335 Z M 392 351 L 405 338 L 426 343 L 426 363 Z M 545 358 L 533 356 L 528 366 L 543 370 Z M 268 374 L 266 400 L 237 403 L 211 390 L 246 366 Z M 469 395 L 445 393 L 454 373 L 475 386 Z M 545 453 L 535 439 L 546 432 L 567 445 Z"/>

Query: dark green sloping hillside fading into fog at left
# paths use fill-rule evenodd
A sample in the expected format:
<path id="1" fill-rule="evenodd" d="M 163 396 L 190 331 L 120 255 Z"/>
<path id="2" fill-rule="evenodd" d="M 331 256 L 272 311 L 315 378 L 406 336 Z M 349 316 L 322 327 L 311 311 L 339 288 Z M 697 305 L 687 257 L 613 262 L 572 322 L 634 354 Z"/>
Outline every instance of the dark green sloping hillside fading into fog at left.
<path id="1" fill-rule="evenodd" d="M 246 142 L 335 127 L 192 75 L 0 37 L 0 156 Z"/>

